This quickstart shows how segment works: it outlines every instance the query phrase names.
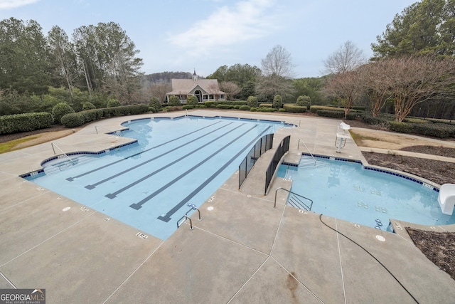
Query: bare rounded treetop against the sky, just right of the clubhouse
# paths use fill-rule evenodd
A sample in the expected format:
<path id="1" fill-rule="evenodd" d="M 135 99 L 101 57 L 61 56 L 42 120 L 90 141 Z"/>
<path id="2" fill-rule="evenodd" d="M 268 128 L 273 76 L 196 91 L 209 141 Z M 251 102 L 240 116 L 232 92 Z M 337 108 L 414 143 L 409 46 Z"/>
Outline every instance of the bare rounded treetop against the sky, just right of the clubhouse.
<path id="1" fill-rule="evenodd" d="M 262 73 L 264 76 L 277 75 L 291 78 L 294 73 L 291 53 L 282 46 L 274 46 L 267 56 L 261 60 Z"/>

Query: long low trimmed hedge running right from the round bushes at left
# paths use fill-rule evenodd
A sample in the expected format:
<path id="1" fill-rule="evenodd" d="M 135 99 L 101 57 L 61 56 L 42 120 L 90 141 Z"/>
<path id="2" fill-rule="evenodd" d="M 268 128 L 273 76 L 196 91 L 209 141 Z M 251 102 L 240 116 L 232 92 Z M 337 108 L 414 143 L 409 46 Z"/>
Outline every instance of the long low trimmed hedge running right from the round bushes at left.
<path id="1" fill-rule="evenodd" d="M 69 113 L 61 118 L 65 127 L 79 127 L 87 122 L 100 120 L 103 117 L 117 117 L 126 115 L 138 115 L 149 112 L 148 105 L 123 105 L 120 107 L 87 110 Z"/>

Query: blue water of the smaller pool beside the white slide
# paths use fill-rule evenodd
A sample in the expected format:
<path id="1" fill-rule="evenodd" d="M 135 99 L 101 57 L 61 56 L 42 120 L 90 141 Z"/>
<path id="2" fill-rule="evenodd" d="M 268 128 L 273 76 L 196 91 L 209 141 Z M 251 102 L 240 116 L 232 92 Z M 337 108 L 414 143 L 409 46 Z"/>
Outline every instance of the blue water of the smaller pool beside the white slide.
<path id="1" fill-rule="evenodd" d="M 277 176 L 292 179 L 291 192 L 311 199 L 311 211 L 382 230 L 390 219 L 455 224 L 455 215 L 442 214 L 439 192 L 428 184 L 358 162 L 316 157 L 315 167 L 309 159 L 302 155 L 299 167 L 282 164 Z"/>

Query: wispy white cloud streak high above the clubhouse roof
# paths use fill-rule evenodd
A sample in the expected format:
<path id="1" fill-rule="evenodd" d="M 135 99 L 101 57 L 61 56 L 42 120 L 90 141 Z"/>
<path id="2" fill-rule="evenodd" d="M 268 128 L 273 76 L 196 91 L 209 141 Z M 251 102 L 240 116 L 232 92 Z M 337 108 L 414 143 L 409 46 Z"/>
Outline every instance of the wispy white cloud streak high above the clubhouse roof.
<path id="1" fill-rule="evenodd" d="M 188 55 L 200 56 L 220 51 L 217 47 L 261 38 L 278 28 L 274 14 L 268 14 L 272 6 L 273 0 L 246 0 L 233 6 L 221 6 L 187 31 L 169 36 L 168 41 L 188 50 Z"/>

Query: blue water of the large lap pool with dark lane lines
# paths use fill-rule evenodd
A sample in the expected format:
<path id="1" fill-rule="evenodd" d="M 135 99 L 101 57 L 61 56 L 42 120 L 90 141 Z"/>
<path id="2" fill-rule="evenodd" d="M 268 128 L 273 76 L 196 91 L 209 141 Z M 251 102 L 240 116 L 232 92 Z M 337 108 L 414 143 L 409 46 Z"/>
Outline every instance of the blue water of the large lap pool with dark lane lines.
<path id="1" fill-rule="evenodd" d="M 167 239 L 177 221 L 203 204 L 237 169 L 260 137 L 284 122 L 178 117 L 123 124 L 137 143 L 102 154 L 43 164 L 27 179 L 141 231 Z M 190 213 L 191 214 L 191 213 Z"/>

